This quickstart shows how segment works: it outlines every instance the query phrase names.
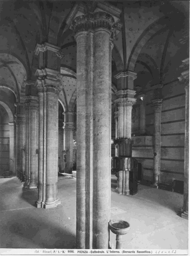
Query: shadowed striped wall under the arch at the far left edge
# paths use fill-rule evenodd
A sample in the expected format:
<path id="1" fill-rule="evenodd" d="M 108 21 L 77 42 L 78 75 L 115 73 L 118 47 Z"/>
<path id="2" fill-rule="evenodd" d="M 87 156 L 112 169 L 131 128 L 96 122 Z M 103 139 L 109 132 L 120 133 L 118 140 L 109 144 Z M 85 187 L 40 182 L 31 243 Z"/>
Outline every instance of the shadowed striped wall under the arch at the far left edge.
<path id="1" fill-rule="evenodd" d="M 0 105 L 0 176 L 9 171 L 9 116 Z"/>

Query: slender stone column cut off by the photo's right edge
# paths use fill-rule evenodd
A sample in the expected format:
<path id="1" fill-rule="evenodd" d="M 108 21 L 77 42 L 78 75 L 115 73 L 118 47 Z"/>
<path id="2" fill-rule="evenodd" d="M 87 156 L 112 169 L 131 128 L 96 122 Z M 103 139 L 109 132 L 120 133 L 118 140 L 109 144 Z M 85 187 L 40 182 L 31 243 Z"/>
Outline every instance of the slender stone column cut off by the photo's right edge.
<path id="1" fill-rule="evenodd" d="M 178 77 L 185 83 L 185 149 L 184 149 L 184 191 L 181 217 L 188 220 L 189 216 L 189 58 L 183 60 L 180 68 L 187 69 Z"/>

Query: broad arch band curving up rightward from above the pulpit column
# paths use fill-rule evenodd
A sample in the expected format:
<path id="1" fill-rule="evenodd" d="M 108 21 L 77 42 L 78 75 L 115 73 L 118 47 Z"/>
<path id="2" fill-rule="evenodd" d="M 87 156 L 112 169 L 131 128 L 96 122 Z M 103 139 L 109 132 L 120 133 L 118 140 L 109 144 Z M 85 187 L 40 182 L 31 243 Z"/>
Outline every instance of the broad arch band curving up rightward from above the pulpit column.
<path id="1" fill-rule="evenodd" d="M 144 45 L 152 38 L 154 34 L 167 27 L 168 20 L 166 17 L 162 17 L 156 20 L 137 39 L 134 47 L 132 48 L 131 54 L 127 62 L 127 70 L 134 71 L 135 63 Z"/>

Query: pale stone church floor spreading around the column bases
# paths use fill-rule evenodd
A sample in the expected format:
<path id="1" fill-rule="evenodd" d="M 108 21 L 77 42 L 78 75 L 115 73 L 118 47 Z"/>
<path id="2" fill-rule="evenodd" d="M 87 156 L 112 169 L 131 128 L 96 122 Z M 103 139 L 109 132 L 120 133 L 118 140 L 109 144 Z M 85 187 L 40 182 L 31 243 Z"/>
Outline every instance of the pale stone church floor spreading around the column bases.
<path id="1" fill-rule="evenodd" d="M 2 180 L 2 179 L 1 179 Z M 18 178 L 0 182 L 0 248 L 75 248 L 76 179 L 60 176 L 57 208 L 35 208 L 37 189 L 23 189 Z M 177 215 L 183 195 L 138 186 L 135 196 L 114 193 L 112 175 L 112 219 L 124 219 L 131 230 L 123 236 L 127 249 L 187 249 L 188 220 Z M 115 235 L 110 240 L 115 245 Z"/>

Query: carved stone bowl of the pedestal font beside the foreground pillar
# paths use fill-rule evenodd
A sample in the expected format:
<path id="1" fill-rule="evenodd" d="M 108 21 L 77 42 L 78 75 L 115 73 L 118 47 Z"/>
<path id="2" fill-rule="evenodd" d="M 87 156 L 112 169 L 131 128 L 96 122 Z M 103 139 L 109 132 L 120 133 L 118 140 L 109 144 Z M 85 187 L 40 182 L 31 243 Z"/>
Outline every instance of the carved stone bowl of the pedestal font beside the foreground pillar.
<path id="1" fill-rule="evenodd" d="M 124 220 L 110 220 L 109 228 L 114 234 L 125 235 L 130 230 L 130 225 Z"/>

